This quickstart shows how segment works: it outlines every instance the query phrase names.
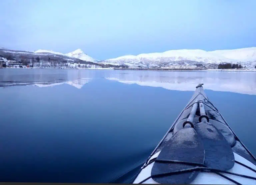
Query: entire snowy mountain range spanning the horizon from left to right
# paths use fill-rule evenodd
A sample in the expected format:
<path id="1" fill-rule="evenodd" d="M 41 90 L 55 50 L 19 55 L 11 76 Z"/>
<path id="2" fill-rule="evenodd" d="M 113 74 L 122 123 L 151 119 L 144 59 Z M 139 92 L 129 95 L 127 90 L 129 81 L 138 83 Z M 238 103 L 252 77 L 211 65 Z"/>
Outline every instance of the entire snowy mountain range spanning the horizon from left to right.
<path id="1" fill-rule="evenodd" d="M 0 48 L 0 54 L 9 53 L 15 58 L 21 60 L 25 56 L 31 55 L 30 62 L 33 59 L 32 55 L 39 55 L 43 62 L 49 62 L 48 58 L 56 61 L 61 60 L 73 61 L 75 63 L 92 62 L 101 66 L 126 66 L 129 68 L 216 68 L 220 63 L 239 63 L 246 68 L 254 68 L 256 65 L 256 47 L 229 49 L 229 50 L 214 50 L 205 51 L 201 49 L 179 49 L 168 50 L 165 52 L 142 53 L 138 55 L 124 55 L 117 58 L 97 61 L 85 54 L 81 49 L 63 54 L 51 50 L 39 49 L 36 51 L 19 51 L 7 48 Z M 25 58 L 26 58 L 25 57 Z M 34 58 L 37 56 L 34 56 Z M 58 59 L 59 60 L 59 59 Z"/>

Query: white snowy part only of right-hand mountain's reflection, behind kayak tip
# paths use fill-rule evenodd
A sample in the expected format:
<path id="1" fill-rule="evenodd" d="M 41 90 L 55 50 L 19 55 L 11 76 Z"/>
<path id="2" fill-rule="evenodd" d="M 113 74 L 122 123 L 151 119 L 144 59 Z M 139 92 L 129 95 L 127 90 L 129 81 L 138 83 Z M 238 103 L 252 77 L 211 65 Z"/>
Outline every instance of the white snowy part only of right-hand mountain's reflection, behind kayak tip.
<path id="1" fill-rule="evenodd" d="M 140 86 L 150 86 L 150 87 L 162 87 L 168 90 L 177 91 L 194 91 L 195 87 L 199 83 L 204 83 L 204 88 L 213 91 L 224 91 L 233 92 L 240 94 L 256 95 L 256 88 L 250 87 L 243 82 L 220 82 L 219 79 L 205 78 L 205 79 L 186 79 L 182 80 L 170 80 L 168 82 L 163 82 L 164 80 L 120 80 L 119 78 L 105 78 L 108 80 L 118 81 L 125 84 L 137 84 Z"/>

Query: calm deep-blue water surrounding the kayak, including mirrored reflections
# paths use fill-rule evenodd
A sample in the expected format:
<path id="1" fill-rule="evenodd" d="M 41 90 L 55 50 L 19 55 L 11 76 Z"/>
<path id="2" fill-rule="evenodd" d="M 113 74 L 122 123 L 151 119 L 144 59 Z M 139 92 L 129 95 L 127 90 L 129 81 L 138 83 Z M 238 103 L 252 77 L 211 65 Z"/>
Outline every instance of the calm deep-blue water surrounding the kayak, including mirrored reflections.
<path id="1" fill-rule="evenodd" d="M 0 181 L 129 180 L 201 82 L 256 155 L 255 72 L 0 69 Z"/>

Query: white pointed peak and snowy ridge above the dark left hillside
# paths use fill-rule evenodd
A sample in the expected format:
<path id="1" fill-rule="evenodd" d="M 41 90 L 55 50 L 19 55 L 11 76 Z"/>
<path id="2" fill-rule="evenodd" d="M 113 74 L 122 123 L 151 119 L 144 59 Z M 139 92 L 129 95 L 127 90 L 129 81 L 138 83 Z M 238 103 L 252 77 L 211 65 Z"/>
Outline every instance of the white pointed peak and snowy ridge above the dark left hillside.
<path id="1" fill-rule="evenodd" d="M 77 50 L 69 52 L 67 54 L 63 54 L 63 53 L 59 53 L 59 52 L 55 52 L 55 51 L 51 51 L 51 50 L 44 50 L 44 49 L 39 49 L 37 51 L 34 51 L 34 53 L 51 53 L 51 54 L 55 54 L 55 55 L 64 55 L 64 56 L 68 56 L 71 58 L 78 58 L 80 60 L 84 60 L 87 62 L 97 62 L 97 60 L 95 60 L 92 57 L 85 54 L 81 49 L 77 49 Z"/>

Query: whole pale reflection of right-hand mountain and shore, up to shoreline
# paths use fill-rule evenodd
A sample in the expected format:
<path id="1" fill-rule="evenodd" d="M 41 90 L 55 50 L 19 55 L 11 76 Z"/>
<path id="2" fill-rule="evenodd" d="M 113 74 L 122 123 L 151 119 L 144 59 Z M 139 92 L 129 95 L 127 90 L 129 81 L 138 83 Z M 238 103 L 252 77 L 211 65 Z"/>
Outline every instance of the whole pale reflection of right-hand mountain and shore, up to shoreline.
<path id="1" fill-rule="evenodd" d="M 126 84 L 162 87 L 169 90 L 194 91 L 198 83 L 205 89 L 242 94 L 256 94 L 255 72 L 155 72 L 122 73 L 106 77 Z"/>

